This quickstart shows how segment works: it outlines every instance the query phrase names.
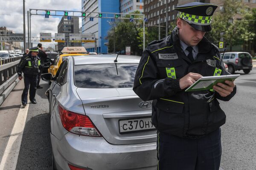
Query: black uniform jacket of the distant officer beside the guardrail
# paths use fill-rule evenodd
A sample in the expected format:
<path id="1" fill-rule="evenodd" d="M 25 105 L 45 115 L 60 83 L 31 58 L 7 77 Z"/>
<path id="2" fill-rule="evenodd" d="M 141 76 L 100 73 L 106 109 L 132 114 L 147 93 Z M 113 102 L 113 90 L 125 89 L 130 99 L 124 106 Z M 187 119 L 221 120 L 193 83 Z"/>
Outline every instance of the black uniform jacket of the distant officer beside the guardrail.
<path id="1" fill-rule="evenodd" d="M 24 76 L 38 75 L 40 70 L 41 60 L 38 56 L 32 57 L 31 53 L 24 55 L 18 64 L 17 73 L 21 76 L 21 71 Z"/>

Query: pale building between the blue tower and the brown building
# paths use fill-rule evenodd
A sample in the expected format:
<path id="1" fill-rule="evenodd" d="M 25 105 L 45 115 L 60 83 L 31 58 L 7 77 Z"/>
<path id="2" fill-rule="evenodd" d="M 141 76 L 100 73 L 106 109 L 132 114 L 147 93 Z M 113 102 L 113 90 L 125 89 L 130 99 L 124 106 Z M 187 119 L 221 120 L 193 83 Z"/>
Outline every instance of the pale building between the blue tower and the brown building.
<path id="1" fill-rule="evenodd" d="M 140 11 L 143 13 L 143 0 L 120 0 L 120 13 Z"/>

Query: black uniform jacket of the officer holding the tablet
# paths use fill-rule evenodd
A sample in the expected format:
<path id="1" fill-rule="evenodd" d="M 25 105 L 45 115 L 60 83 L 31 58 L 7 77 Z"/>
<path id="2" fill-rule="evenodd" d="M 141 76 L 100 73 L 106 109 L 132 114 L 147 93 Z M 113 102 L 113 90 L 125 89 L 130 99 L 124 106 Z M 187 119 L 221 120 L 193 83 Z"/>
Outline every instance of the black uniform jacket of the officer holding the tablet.
<path id="1" fill-rule="evenodd" d="M 152 123 L 160 132 L 197 138 L 225 123 L 226 115 L 217 99 L 230 100 L 236 94 L 236 87 L 227 97 L 212 91 L 180 89 L 179 79 L 189 72 L 213 76 L 220 65 L 218 48 L 205 37 L 198 44 L 198 50 L 197 58 L 190 62 L 180 48 L 176 27 L 172 35 L 149 43 L 143 52 L 133 90 L 144 101 L 154 100 Z M 175 70 L 175 77 L 173 73 L 167 76 L 170 69 Z M 230 74 L 223 63 L 220 69 L 221 75 Z"/>

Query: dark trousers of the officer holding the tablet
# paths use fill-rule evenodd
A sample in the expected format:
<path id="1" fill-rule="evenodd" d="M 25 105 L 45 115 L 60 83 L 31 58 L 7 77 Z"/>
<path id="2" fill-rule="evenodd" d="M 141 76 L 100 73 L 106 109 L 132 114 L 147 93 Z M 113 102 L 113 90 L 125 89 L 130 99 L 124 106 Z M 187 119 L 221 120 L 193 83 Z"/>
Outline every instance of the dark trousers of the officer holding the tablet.
<path id="1" fill-rule="evenodd" d="M 199 139 L 157 132 L 157 170 L 219 170 L 221 128 Z"/>

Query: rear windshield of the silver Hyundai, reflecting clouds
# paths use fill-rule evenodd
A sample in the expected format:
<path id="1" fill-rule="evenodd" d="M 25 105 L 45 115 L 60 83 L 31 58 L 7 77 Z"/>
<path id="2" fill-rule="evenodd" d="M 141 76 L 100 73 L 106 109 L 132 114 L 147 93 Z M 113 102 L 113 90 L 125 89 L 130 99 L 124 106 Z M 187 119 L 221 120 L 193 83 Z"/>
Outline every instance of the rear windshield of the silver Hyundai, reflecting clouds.
<path id="1" fill-rule="evenodd" d="M 79 88 L 132 88 L 138 64 L 75 65 L 75 85 Z"/>

